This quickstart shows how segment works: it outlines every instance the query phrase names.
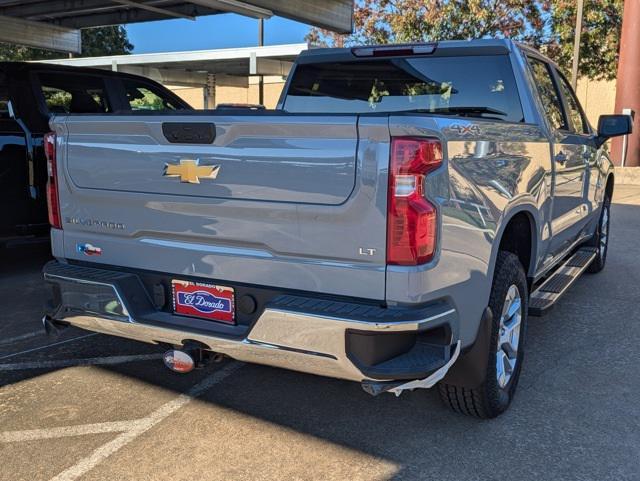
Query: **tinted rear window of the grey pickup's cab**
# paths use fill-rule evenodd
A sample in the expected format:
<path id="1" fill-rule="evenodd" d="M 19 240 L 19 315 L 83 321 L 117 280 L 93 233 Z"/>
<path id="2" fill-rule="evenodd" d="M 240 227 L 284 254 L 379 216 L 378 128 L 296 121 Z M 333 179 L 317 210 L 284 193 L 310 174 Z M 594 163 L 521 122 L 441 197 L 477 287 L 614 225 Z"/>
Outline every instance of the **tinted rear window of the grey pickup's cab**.
<path id="1" fill-rule="evenodd" d="M 288 112 L 417 110 L 524 120 L 506 55 L 302 64 L 293 75 L 284 104 Z"/>

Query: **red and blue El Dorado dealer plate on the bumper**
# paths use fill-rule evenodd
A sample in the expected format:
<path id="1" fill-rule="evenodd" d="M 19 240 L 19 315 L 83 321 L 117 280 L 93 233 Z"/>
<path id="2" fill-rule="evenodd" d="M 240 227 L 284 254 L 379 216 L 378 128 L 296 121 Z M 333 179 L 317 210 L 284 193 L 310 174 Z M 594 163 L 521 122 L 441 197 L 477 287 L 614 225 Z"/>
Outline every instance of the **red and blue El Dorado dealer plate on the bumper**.
<path id="1" fill-rule="evenodd" d="M 176 314 L 235 324 L 233 288 L 179 280 L 171 285 Z"/>

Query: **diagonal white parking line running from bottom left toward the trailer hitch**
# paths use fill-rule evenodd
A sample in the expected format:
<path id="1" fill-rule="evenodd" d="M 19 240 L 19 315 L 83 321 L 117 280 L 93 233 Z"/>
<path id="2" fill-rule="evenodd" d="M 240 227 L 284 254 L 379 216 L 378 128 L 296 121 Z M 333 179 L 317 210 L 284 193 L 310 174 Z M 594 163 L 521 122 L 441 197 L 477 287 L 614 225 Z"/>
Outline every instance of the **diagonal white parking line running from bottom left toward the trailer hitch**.
<path id="1" fill-rule="evenodd" d="M 78 463 L 65 469 L 57 476 L 51 478 L 50 481 L 74 481 L 78 479 L 80 476 L 86 474 L 87 472 L 98 466 L 109 456 L 122 449 L 131 441 L 135 440 L 138 436 L 144 434 L 156 424 L 160 423 L 171 414 L 176 412 L 178 409 L 186 406 L 193 398 L 200 396 L 211 387 L 223 381 L 227 376 L 238 370 L 240 367 L 242 367 L 242 363 L 239 362 L 231 362 L 227 364 L 219 371 L 213 373 L 211 376 L 205 378 L 203 381 L 193 386 L 186 394 L 181 394 L 174 400 L 160 406 L 146 418 L 136 421 L 131 429 L 122 434 L 119 434 L 115 439 L 100 446 L 89 456 L 81 459 Z"/>

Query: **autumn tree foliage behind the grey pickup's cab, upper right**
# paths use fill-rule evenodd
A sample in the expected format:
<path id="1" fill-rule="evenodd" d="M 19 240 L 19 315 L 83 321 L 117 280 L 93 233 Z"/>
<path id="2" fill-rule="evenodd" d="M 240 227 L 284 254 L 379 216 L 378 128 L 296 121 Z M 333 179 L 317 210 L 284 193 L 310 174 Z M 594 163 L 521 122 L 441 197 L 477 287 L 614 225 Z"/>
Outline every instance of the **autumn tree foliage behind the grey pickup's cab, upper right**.
<path id="1" fill-rule="evenodd" d="M 585 0 L 580 74 L 616 76 L 624 0 Z M 328 46 L 513 38 L 571 68 L 576 0 L 356 0 L 352 35 L 312 29 Z"/>

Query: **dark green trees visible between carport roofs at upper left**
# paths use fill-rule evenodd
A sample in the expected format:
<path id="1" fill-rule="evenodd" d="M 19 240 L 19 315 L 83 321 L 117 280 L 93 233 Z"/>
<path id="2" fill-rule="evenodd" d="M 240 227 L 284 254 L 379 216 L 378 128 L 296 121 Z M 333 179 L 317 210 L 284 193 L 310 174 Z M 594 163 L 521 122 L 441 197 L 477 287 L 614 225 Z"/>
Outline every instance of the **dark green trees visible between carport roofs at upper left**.
<path id="1" fill-rule="evenodd" d="M 121 25 L 82 30 L 81 57 L 122 55 L 131 53 L 131 50 L 133 45 Z M 0 43 L 0 60 L 44 60 L 60 57 L 64 57 L 64 53 Z"/>

